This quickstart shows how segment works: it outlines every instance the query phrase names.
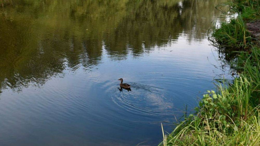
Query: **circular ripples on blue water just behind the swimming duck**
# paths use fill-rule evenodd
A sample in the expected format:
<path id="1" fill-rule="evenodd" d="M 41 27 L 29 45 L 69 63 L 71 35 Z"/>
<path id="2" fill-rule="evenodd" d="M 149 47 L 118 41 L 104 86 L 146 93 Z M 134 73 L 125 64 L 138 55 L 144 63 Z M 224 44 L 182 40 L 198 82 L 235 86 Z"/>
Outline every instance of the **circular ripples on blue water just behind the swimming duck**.
<path id="1" fill-rule="evenodd" d="M 119 107 L 141 115 L 173 115 L 173 102 L 164 96 L 162 88 L 131 84 L 131 90 L 119 90 L 119 85 L 110 86 L 112 101 Z"/>

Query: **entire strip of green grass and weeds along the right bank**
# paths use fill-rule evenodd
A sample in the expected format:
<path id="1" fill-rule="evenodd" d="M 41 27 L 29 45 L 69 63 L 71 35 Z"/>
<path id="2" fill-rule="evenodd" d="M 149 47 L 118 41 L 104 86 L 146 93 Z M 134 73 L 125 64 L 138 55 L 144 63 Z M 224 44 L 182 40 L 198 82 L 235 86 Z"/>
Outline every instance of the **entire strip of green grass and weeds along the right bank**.
<path id="1" fill-rule="evenodd" d="M 209 40 L 237 77 L 207 91 L 195 112 L 171 133 L 165 134 L 162 125 L 159 145 L 260 145 L 260 46 L 255 35 L 260 1 L 235 0 L 217 8 L 222 11 L 223 6 L 229 7 L 223 13 L 230 17 L 212 29 Z"/>

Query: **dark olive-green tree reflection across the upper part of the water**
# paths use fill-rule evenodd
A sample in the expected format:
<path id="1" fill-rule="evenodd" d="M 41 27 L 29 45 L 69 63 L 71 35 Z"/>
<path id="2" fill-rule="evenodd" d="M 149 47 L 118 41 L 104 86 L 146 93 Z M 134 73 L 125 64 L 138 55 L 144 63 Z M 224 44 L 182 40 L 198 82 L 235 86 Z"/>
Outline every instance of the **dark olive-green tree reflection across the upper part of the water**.
<path id="1" fill-rule="evenodd" d="M 43 84 L 66 67 L 90 69 L 103 47 L 122 59 L 186 34 L 203 39 L 211 27 L 210 0 L 4 1 L 0 8 L 0 89 Z M 10 3 L 11 2 L 11 3 Z"/>

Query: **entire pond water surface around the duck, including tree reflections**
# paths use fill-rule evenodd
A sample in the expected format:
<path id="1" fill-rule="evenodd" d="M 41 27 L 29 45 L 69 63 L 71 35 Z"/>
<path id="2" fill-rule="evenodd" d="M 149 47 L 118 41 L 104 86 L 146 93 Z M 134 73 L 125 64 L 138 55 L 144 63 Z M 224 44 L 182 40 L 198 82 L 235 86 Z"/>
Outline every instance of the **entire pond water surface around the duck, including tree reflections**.
<path id="1" fill-rule="evenodd" d="M 206 39 L 221 1 L 5 2 L 1 146 L 157 145 L 223 74 Z"/>

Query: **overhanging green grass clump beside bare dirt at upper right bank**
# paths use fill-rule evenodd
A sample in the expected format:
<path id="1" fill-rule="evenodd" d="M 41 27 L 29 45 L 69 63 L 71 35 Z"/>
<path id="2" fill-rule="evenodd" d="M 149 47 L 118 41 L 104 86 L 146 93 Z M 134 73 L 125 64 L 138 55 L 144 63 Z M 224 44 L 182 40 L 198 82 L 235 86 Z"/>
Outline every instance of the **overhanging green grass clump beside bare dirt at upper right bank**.
<path id="1" fill-rule="evenodd" d="M 224 11 L 222 7 L 229 6 L 229 11 Z M 226 52 L 230 51 L 249 51 L 251 46 L 258 44 L 259 40 L 252 38 L 246 29 L 247 22 L 260 19 L 259 0 L 235 0 L 222 3 L 217 6 L 229 21 L 224 20 L 220 27 L 213 27 L 212 35 L 209 40 L 213 45 Z M 234 14 L 238 16 L 235 17 Z"/>

